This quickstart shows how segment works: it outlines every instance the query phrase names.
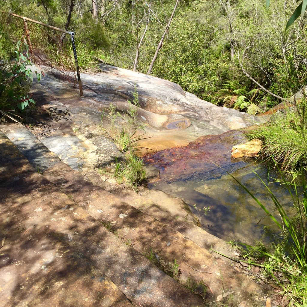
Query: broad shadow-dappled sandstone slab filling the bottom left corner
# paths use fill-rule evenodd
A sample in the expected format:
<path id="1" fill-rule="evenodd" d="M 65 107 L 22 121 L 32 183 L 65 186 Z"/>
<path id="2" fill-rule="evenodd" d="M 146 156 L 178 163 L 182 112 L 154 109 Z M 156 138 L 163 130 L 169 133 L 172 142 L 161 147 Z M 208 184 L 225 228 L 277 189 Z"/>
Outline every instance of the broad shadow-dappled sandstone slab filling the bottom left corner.
<path id="1" fill-rule="evenodd" d="M 15 296 L 29 306 L 41 306 L 48 300 L 49 306 L 57 300 L 64 306 L 129 306 L 130 302 L 138 306 L 203 306 L 200 298 L 123 244 L 35 172 L 1 132 L 0 146 L 0 264 L 5 273 L 0 278 L 1 285 L 9 283 L 8 288 L 2 287 L 7 306 L 15 306 Z M 93 287 L 80 290 L 79 295 L 76 291 L 83 282 Z M 75 303 L 82 293 L 87 293 L 88 299 Z"/>

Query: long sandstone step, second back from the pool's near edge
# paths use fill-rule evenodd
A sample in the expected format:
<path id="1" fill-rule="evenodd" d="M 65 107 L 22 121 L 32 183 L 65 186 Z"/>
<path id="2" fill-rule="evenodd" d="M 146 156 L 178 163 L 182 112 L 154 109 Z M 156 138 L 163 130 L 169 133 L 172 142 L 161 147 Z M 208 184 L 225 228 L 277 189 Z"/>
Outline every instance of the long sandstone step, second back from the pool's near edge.
<path id="1" fill-rule="evenodd" d="M 153 252 L 160 262 L 176 261 L 182 272 L 181 282 L 186 282 L 188 278 L 203 281 L 209 289 L 208 300 L 215 301 L 227 288 L 235 304 L 242 301 L 250 305 L 263 304 L 262 288 L 239 274 L 222 258 L 212 255 L 153 216 L 93 185 L 79 172 L 62 163 L 48 169 L 44 176 L 135 250 L 147 255 Z"/>

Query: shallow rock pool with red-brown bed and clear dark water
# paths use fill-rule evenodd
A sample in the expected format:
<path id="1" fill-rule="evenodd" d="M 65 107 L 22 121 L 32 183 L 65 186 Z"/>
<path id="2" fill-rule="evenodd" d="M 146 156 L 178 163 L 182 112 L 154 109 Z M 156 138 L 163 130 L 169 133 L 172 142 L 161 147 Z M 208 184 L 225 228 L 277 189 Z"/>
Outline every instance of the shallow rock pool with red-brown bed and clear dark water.
<path id="1" fill-rule="evenodd" d="M 266 184 L 270 182 L 271 191 L 289 210 L 292 199 L 285 185 L 274 182 L 279 175 L 276 170 L 268 171 L 265 163 L 253 158 L 231 159 L 232 146 L 246 141 L 243 130 L 231 130 L 200 137 L 186 147 L 148 155 L 144 161 L 161 171 L 161 179 L 150 184 L 150 188 L 183 199 L 201 218 L 202 227 L 213 235 L 253 244 L 262 237 L 263 226 L 270 226 L 273 231 L 278 229 L 227 172 L 246 186 L 268 210 L 275 208 L 270 193 L 252 169 Z M 202 212 L 199 216 L 194 204 L 198 209 L 208 206 L 211 209 L 206 216 Z"/>

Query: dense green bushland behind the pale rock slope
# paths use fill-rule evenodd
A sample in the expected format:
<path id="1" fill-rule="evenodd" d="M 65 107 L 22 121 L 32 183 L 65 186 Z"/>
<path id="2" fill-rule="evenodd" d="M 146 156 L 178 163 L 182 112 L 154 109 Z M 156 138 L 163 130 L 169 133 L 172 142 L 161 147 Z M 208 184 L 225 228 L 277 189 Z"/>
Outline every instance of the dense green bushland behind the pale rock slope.
<path id="1" fill-rule="evenodd" d="M 81 69 L 95 69 L 95 58 L 102 58 L 147 73 L 175 1 L 2 0 L 1 4 L 6 11 L 75 31 Z M 181 1 L 151 74 L 212 103 L 250 113 L 265 111 L 306 83 L 306 21 L 284 30 L 295 7 L 296 2 L 281 0 L 271 2 L 268 10 L 264 0 Z M 2 14 L 1 23 L 11 40 L 21 38 L 22 20 Z M 49 55 L 53 65 L 73 67 L 69 37 L 33 24 L 30 31 L 35 48 Z M 0 41 L 3 44 L 3 38 Z M 221 99 L 220 90 L 233 80 L 231 97 Z M 254 97 L 242 94 L 254 92 Z"/>

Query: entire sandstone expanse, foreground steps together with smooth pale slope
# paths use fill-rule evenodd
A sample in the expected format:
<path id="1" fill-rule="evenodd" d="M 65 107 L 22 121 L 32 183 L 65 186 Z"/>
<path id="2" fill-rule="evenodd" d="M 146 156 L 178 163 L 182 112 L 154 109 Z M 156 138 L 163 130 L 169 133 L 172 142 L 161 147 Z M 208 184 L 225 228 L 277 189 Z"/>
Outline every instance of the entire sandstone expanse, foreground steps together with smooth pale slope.
<path id="1" fill-rule="evenodd" d="M 49 127 L 44 138 L 33 140 L 19 127 L 1 126 L 8 137 L 0 134 L 0 239 L 6 240 L 2 256 L 5 261 L 27 261 L 20 273 L 9 271 L 15 263 L 1 262 L 6 272 L 16 273 L 17 278 L 7 275 L 7 279 L 18 282 L 6 288 L 9 295 L 5 306 L 15 306 L 15 301 L 7 299 L 20 295 L 24 301 L 42 306 L 53 297 L 51 305 L 64 305 L 67 300 L 80 306 L 200 307 L 203 299 L 207 304 L 223 297 L 225 287 L 234 292 L 233 304 L 247 301 L 262 306 L 265 291 L 239 274 L 228 260 L 208 250 L 216 247 L 223 251 L 227 247 L 193 224 L 197 221 L 182 200 L 162 192 L 144 193 L 143 198 L 125 191 L 115 195 L 112 189 L 108 192 L 104 185 L 94 184 L 87 177 L 89 169 L 95 172 L 95 168 L 121 158 L 120 151 L 103 134 L 102 115 L 107 114 L 110 103 L 119 112 L 129 110 L 127 100 L 133 100 L 135 89 L 140 103 L 135 106 L 137 121 L 144 125 L 146 137 L 152 137 L 141 144 L 147 151 L 185 146 L 202 135 L 231 133 L 231 129 L 260 123 L 261 118 L 217 107 L 172 82 L 111 65 L 102 65 L 97 74 L 81 74 L 84 97 L 72 84 L 45 75 L 32 90 Z M 119 120 L 116 124 L 122 123 Z M 172 156 L 175 154 L 172 152 Z M 36 254 L 45 246 L 60 258 L 48 266 L 42 262 L 43 254 Z M 24 247 L 30 256 L 22 253 Z M 196 297 L 163 273 L 144 256 L 150 250 L 160 257 L 159 261 L 179 264 L 181 283 L 188 278 L 204 281 L 207 293 Z M 66 268 L 69 274 L 65 275 Z M 37 278 L 37 270 L 44 270 L 45 279 Z M 31 286 L 22 288 L 26 274 Z M 67 284 L 66 293 L 56 284 L 59 276 Z M 52 282 L 50 289 L 46 288 L 47 280 Z M 70 282 L 73 280 L 76 282 Z M 105 285 L 102 290 L 100 282 Z M 83 283 L 87 302 L 80 301 L 83 292 L 76 290 Z M 38 290 L 32 295 L 29 289 L 33 287 Z"/>

